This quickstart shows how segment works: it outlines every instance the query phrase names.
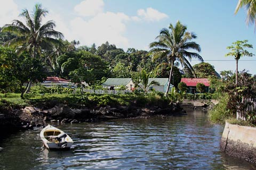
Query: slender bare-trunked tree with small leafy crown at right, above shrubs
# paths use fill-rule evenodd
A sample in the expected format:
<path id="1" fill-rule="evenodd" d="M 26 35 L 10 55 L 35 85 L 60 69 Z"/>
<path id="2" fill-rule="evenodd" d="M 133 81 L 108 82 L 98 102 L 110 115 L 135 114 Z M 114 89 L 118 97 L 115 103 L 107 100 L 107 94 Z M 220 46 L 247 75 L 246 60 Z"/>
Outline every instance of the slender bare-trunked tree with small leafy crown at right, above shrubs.
<path id="1" fill-rule="evenodd" d="M 248 44 L 248 40 L 237 40 L 236 42 L 232 43 L 232 46 L 228 46 L 227 49 L 230 49 L 231 51 L 226 54 L 226 56 L 235 56 L 236 60 L 236 84 L 237 84 L 237 77 L 238 77 L 238 60 L 242 56 L 249 56 L 252 57 L 253 54 L 248 52 L 244 48 L 253 48 L 251 44 Z"/>

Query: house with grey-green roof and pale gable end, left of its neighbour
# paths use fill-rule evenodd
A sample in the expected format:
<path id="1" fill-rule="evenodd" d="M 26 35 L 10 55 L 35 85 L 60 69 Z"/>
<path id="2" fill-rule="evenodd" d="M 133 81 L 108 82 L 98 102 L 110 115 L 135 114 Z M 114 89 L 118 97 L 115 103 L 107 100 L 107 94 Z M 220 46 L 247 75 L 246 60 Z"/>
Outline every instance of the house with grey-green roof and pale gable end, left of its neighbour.
<path id="1" fill-rule="evenodd" d="M 107 81 L 101 84 L 103 88 L 114 90 L 119 86 L 125 86 L 126 90 L 132 90 L 135 84 L 132 82 L 132 78 L 108 78 Z"/>

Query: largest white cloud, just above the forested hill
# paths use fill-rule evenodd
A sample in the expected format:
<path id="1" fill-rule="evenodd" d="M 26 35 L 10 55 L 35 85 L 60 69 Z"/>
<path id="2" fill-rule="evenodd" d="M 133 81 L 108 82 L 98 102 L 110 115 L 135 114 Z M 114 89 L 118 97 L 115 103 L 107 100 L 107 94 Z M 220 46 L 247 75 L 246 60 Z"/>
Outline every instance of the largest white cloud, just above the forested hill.
<path id="1" fill-rule="evenodd" d="M 129 40 L 123 33 L 126 29 L 125 22 L 129 20 L 129 16 L 124 13 L 113 12 L 100 13 L 87 21 L 77 17 L 70 23 L 71 36 L 82 45 L 101 45 L 109 41 L 110 44 L 127 48 Z"/>

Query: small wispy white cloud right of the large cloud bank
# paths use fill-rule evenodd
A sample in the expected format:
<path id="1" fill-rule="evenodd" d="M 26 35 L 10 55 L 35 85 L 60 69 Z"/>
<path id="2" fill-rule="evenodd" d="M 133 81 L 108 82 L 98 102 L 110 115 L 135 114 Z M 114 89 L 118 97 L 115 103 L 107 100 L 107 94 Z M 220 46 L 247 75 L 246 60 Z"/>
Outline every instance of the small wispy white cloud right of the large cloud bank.
<path id="1" fill-rule="evenodd" d="M 168 15 L 165 13 L 159 12 L 154 8 L 148 7 L 147 10 L 139 9 L 137 14 L 140 18 L 146 21 L 159 21 L 164 18 L 168 18 Z"/>

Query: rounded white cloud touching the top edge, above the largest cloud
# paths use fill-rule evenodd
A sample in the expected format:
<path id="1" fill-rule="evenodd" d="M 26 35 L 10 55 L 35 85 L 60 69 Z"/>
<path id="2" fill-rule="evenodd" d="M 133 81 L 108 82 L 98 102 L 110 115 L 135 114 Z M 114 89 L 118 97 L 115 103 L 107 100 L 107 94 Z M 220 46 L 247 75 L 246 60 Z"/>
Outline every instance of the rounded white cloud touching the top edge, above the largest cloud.
<path id="1" fill-rule="evenodd" d="M 85 0 L 76 5 L 74 10 L 81 16 L 94 16 L 103 12 L 103 0 Z"/>

